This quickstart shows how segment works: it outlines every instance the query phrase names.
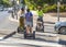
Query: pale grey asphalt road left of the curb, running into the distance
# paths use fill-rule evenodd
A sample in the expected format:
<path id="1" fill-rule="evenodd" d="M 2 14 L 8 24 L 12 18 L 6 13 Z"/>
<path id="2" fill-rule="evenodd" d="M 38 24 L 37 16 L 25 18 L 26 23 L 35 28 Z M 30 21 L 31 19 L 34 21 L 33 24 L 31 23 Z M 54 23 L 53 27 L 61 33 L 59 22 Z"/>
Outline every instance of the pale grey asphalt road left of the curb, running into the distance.
<path id="1" fill-rule="evenodd" d="M 18 23 L 10 21 L 9 15 L 10 13 L 8 13 L 8 11 L 0 12 L 0 31 L 14 31 L 18 27 Z"/>

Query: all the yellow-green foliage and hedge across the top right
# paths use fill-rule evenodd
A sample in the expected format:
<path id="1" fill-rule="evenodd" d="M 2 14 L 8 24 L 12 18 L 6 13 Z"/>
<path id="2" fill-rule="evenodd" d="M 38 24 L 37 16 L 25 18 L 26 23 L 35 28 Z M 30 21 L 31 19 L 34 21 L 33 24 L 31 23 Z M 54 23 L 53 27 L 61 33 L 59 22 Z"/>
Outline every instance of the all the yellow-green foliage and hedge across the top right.
<path id="1" fill-rule="evenodd" d="M 25 3 L 31 10 L 41 5 L 43 12 L 57 12 L 57 0 L 25 0 Z M 62 4 L 59 11 L 66 11 L 66 5 Z"/>

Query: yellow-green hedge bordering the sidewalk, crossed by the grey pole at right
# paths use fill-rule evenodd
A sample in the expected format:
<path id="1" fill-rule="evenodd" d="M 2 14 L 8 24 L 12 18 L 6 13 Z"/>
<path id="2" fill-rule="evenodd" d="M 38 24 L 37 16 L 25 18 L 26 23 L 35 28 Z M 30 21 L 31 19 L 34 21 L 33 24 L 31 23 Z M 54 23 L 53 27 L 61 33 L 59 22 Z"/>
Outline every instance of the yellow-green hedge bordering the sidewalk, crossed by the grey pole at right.
<path id="1" fill-rule="evenodd" d="M 43 8 L 43 12 L 57 12 L 57 5 L 53 4 L 53 5 L 48 5 L 46 8 Z M 66 5 L 62 4 L 59 7 L 59 12 L 66 12 Z"/>

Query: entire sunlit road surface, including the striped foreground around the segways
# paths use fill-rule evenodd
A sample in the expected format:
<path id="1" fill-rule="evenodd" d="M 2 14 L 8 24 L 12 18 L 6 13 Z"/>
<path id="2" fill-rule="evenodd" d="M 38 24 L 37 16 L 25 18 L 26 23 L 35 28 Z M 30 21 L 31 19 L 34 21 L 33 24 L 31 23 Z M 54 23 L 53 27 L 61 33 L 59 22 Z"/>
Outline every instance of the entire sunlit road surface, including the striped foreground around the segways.
<path id="1" fill-rule="evenodd" d="M 18 22 L 10 21 L 10 14 L 0 12 L 0 35 L 10 35 L 18 27 Z M 35 16 L 34 16 L 35 20 Z M 36 32 L 35 39 L 24 39 L 23 34 L 11 34 L 6 39 L 0 40 L 1 47 L 61 47 L 66 45 L 66 35 L 55 34 L 54 24 L 44 23 L 45 33 Z M 35 24 L 34 24 L 35 27 Z M 64 37 L 64 38 L 63 38 Z M 65 44 L 64 44 L 65 42 Z M 53 45 L 52 45 L 53 44 Z M 65 47 L 65 46 L 64 46 Z"/>

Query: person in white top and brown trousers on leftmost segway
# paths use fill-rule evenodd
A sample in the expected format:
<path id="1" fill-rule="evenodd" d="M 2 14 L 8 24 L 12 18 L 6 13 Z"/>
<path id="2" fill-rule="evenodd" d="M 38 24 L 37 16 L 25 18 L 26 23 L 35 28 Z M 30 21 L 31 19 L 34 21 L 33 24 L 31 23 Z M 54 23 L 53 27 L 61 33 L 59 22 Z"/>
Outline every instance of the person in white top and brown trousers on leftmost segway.
<path id="1" fill-rule="evenodd" d="M 22 8 L 20 13 L 20 19 L 19 19 L 18 33 L 23 33 L 24 31 L 24 17 L 25 17 L 25 13 L 24 13 L 24 9 Z"/>

